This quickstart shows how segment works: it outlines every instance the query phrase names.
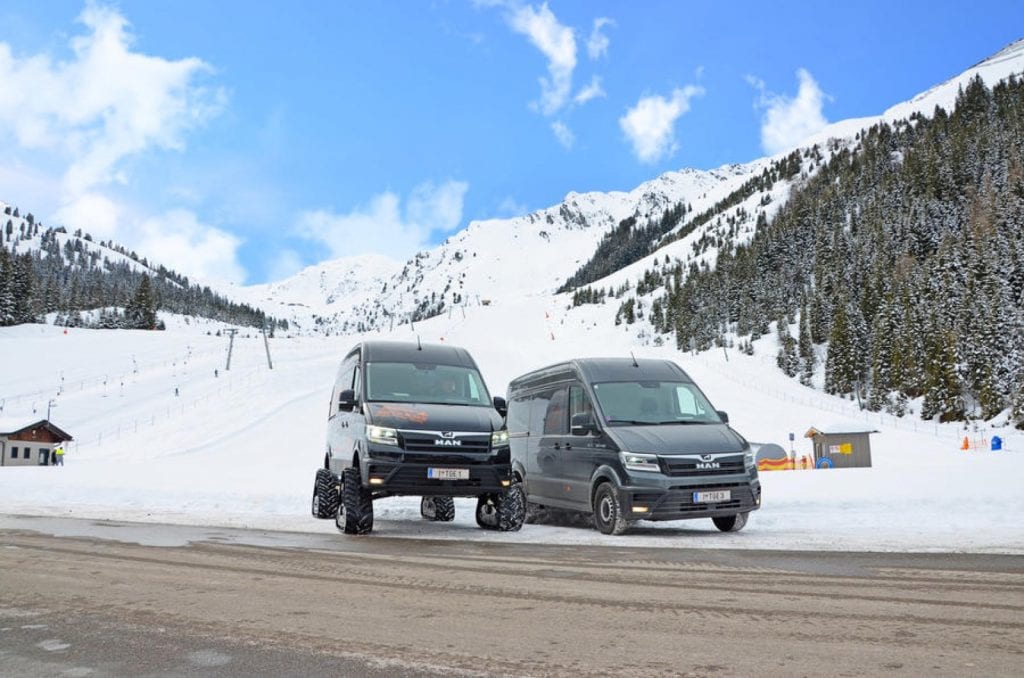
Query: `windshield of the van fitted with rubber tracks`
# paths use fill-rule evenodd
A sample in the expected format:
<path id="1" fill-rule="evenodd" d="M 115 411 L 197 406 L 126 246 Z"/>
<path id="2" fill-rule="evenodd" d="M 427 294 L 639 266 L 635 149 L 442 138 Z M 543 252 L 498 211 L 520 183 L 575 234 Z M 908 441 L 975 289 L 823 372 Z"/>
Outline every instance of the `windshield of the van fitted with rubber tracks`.
<path id="1" fill-rule="evenodd" d="M 490 407 L 490 396 L 476 370 L 420 363 L 368 363 L 367 399 Z"/>

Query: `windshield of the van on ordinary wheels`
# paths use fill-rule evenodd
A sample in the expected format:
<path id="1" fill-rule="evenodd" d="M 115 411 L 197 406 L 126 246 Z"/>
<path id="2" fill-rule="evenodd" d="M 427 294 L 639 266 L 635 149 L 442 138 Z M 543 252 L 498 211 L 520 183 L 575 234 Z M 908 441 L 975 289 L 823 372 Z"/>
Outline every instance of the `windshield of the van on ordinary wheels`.
<path id="1" fill-rule="evenodd" d="M 682 381 L 607 381 L 594 384 L 609 426 L 721 424 L 696 385 Z"/>

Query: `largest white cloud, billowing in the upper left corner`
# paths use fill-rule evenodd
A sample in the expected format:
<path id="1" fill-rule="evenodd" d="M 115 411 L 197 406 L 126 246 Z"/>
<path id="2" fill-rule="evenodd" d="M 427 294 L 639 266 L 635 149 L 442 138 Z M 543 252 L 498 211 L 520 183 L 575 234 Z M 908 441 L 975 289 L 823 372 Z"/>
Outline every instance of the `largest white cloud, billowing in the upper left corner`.
<path id="1" fill-rule="evenodd" d="M 103 188 L 130 181 L 126 159 L 184 147 L 187 133 L 216 115 L 225 95 L 197 84 L 210 73 L 201 59 L 169 60 L 137 51 L 127 19 L 116 9 L 89 2 L 78 22 L 85 30 L 69 40 L 67 58 L 15 56 L 0 43 L 0 163 L 5 166 L 0 176 L 31 157 L 34 183 L 49 186 L 35 209 L 72 228 L 145 252 L 139 243 L 147 237 L 143 219 Z M 171 222 L 181 223 L 178 217 Z M 218 232 L 194 234 L 194 239 L 225 249 Z M 159 250 L 154 254 L 182 269 L 197 258 L 191 251 L 180 262 Z M 228 267 L 228 278 L 240 277 L 236 273 Z"/>

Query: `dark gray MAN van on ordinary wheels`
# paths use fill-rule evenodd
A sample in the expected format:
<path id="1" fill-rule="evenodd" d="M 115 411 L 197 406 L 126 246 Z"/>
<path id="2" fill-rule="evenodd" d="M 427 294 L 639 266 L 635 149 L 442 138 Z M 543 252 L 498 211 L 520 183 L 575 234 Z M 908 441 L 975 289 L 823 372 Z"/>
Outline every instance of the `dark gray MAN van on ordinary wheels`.
<path id="1" fill-rule="evenodd" d="M 761 505 L 751 446 L 671 361 L 569 361 L 514 379 L 508 396 L 527 522 L 550 507 L 592 513 L 606 535 L 684 518 L 735 532 Z"/>

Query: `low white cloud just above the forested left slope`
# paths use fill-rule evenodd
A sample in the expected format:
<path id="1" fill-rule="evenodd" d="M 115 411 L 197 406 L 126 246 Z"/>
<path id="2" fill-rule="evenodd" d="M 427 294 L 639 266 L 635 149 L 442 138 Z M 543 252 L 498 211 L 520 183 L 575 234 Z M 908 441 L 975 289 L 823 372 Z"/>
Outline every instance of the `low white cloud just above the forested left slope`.
<path id="1" fill-rule="evenodd" d="M 209 226 L 187 210 L 172 210 L 144 219 L 140 225 L 138 249 L 151 261 L 211 282 L 236 283 L 246 280 L 239 263 L 242 241 Z"/>

